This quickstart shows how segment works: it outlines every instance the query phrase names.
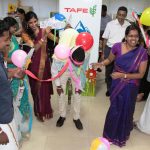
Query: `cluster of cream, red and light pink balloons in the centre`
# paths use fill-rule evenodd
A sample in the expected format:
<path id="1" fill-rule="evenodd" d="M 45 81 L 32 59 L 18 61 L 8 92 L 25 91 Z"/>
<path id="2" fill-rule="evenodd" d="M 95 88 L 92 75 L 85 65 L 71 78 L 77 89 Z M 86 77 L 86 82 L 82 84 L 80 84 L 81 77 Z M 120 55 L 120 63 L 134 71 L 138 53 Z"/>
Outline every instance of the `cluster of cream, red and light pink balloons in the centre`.
<path id="1" fill-rule="evenodd" d="M 71 48 L 81 47 L 85 52 L 93 46 L 93 36 L 88 32 L 78 33 L 75 29 L 66 29 L 64 37 L 60 39 L 59 44 L 54 49 L 56 58 L 65 60 L 69 57 Z"/>

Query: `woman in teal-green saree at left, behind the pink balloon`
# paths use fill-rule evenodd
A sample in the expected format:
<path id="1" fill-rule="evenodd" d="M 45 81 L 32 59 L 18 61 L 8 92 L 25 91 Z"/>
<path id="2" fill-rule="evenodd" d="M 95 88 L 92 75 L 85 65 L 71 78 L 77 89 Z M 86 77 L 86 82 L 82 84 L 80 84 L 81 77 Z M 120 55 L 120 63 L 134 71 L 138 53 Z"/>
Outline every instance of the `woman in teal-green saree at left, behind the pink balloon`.
<path id="1" fill-rule="evenodd" d="M 6 17 L 4 20 L 9 25 L 11 40 L 9 50 L 7 54 L 5 54 L 5 61 L 7 62 L 8 70 L 11 71 L 12 68 L 16 68 L 11 61 L 11 56 L 14 51 L 19 49 L 17 39 L 13 35 L 16 32 L 17 21 L 12 17 Z M 32 109 L 29 103 L 27 81 L 27 76 L 25 76 L 23 79 L 13 78 L 11 80 L 11 88 L 14 97 L 14 118 L 17 124 L 19 141 L 21 141 L 23 137 L 27 138 L 29 135 L 28 133 L 31 132 L 32 128 Z"/>

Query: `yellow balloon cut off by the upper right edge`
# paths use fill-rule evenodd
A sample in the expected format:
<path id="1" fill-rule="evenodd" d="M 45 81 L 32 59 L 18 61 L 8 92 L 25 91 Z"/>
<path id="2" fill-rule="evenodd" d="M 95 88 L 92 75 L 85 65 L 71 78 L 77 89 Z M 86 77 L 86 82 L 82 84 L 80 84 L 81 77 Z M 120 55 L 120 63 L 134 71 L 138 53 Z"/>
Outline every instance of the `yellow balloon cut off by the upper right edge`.
<path id="1" fill-rule="evenodd" d="M 146 25 L 146 26 L 150 26 L 150 7 L 149 8 L 146 8 L 141 17 L 140 17 L 140 22 L 143 24 L 143 25 Z"/>

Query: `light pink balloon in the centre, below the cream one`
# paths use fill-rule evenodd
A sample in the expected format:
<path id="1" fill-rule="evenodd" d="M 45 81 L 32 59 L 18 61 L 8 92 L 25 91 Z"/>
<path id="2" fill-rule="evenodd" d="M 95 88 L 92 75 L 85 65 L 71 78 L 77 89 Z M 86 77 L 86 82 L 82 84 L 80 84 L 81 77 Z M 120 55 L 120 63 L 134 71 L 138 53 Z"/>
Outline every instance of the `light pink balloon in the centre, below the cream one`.
<path id="1" fill-rule="evenodd" d="M 58 59 L 67 59 L 70 54 L 70 48 L 66 45 L 58 44 L 54 49 L 54 54 Z"/>

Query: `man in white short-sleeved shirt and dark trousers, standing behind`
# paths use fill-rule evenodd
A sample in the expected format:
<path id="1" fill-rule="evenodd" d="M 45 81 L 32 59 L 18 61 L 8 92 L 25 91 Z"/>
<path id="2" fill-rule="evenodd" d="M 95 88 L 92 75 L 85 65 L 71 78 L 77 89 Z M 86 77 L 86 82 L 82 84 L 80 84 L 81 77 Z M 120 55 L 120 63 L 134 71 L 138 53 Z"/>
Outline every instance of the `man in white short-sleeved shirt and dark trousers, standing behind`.
<path id="1" fill-rule="evenodd" d="M 102 50 L 104 52 L 104 58 L 106 59 L 109 56 L 110 50 L 112 46 L 117 43 L 121 42 L 125 36 L 125 30 L 130 25 L 129 22 L 125 20 L 127 16 L 127 8 L 122 6 L 118 8 L 117 16 L 115 20 L 110 21 L 107 23 L 106 29 L 102 36 L 103 45 Z M 107 92 L 106 96 L 109 96 L 110 87 L 111 87 L 111 73 L 113 71 L 113 63 L 106 66 L 105 77 L 106 77 L 106 84 L 107 84 Z"/>

